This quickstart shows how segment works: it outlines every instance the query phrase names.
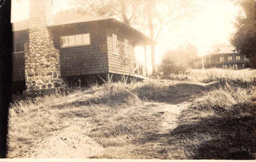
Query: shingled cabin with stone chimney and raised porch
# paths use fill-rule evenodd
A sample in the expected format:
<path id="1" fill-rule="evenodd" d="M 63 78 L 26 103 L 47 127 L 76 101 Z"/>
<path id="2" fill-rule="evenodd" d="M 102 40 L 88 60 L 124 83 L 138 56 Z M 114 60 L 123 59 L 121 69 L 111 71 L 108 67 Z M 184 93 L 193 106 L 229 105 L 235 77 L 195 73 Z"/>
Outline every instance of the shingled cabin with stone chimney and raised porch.
<path id="1" fill-rule="evenodd" d="M 20 92 L 45 90 L 85 82 L 148 79 L 143 33 L 114 18 L 60 12 L 50 0 L 30 0 L 30 18 L 12 23 L 13 86 Z M 134 48 L 144 47 L 144 63 Z"/>

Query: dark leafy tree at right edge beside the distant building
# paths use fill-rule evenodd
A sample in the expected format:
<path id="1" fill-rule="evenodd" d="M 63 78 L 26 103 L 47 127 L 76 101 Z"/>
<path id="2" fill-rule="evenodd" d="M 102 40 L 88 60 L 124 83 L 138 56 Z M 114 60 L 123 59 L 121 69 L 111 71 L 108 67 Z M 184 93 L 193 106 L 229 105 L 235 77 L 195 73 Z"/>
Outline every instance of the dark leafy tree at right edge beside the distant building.
<path id="1" fill-rule="evenodd" d="M 237 31 L 231 38 L 236 51 L 252 59 L 256 68 L 256 1 L 242 0 L 238 2 L 243 12 L 237 17 Z"/>

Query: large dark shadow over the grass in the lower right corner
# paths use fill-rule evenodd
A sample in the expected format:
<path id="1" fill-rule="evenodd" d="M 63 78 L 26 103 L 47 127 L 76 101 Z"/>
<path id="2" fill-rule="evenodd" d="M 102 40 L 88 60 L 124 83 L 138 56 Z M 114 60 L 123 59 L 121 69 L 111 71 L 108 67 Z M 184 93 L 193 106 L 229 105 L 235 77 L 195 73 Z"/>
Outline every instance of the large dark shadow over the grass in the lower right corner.
<path id="1" fill-rule="evenodd" d="M 149 149 L 151 144 L 162 141 L 152 152 L 152 158 L 252 160 L 256 158 L 255 104 L 240 103 L 231 109 L 243 109 L 246 105 L 247 113 L 238 110 L 237 116 L 229 111 L 196 116 L 188 108 L 180 114 L 179 126 L 169 133 L 151 134 L 134 142 L 148 143 L 145 149 Z"/>

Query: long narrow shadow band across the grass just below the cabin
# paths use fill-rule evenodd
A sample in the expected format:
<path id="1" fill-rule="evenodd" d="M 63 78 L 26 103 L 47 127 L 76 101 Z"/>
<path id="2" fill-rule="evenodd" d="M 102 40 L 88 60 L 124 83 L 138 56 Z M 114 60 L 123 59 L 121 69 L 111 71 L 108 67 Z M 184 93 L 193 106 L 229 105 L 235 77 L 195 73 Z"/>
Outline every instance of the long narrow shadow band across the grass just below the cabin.
<path id="1" fill-rule="evenodd" d="M 164 102 L 170 104 L 179 104 L 190 99 L 196 98 L 196 96 L 202 95 L 202 92 L 209 90 L 209 86 L 180 83 L 177 85 L 168 86 L 156 86 L 156 85 L 144 85 L 138 89 L 123 90 L 123 92 L 111 93 L 110 95 L 101 95 L 89 98 L 83 98 L 70 103 L 62 103 L 54 105 L 52 107 L 61 108 L 63 106 L 83 106 L 83 105 L 108 105 L 119 106 L 122 104 L 135 104 L 142 100 L 150 100 L 154 102 Z"/>

